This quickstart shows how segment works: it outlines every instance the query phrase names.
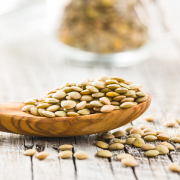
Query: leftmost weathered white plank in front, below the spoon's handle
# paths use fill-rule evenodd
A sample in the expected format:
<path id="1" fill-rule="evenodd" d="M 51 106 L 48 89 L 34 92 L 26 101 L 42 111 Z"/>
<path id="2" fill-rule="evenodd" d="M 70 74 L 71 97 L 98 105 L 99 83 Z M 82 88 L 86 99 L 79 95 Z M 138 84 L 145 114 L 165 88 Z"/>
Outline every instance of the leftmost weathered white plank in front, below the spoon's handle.
<path id="1" fill-rule="evenodd" d="M 0 179 L 32 179 L 31 158 L 23 152 L 24 136 L 0 133 Z"/>

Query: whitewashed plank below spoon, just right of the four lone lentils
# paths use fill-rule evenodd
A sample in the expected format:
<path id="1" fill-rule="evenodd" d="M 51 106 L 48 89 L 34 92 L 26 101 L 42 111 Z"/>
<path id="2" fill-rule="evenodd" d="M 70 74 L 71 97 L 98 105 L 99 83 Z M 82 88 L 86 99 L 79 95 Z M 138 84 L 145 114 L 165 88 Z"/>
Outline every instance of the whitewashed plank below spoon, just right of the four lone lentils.
<path id="1" fill-rule="evenodd" d="M 97 157 L 98 148 L 94 145 L 96 135 L 76 137 L 75 152 L 85 151 L 89 153 L 87 160 L 76 159 L 77 179 L 114 179 L 110 163 L 107 158 Z"/>

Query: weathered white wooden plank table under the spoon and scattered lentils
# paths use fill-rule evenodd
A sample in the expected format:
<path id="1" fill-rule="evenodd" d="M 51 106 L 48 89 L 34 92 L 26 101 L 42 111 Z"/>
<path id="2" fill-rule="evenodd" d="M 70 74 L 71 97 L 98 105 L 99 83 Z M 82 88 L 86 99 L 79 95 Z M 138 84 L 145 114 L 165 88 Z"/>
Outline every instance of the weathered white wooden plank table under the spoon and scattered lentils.
<path id="1" fill-rule="evenodd" d="M 1 102 L 23 101 L 65 82 L 101 75 L 117 75 L 142 84 L 152 95 L 152 105 L 146 114 L 156 116 L 155 123 L 143 118 L 132 125 L 148 124 L 156 130 L 165 129 L 171 135 L 175 128 L 164 128 L 163 122 L 180 116 L 180 52 L 177 41 L 157 44 L 149 61 L 129 68 L 76 67 L 63 61 L 64 57 L 53 38 L 44 34 L 44 3 L 38 1 L 35 14 L 27 9 L 0 18 L 0 98 Z M 25 14 L 25 16 L 23 16 Z M 129 126 L 129 125 L 127 125 Z M 127 127 L 126 126 L 126 127 Z M 125 129 L 122 127 L 121 129 Z M 179 180 L 178 173 L 170 172 L 167 164 L 180 163 L 180 150 L 156 158 L 147 158 L 140 148 L 125 145 L 114 151 L 112 158 L 99 158 L 94 146 L 96 135 L 70 138 L 40 138 L 0 133 L 0 179 L 3 180 Z M 72 144 L 90 154 L 87 160 L 59 159 L 58 147 Z M 153 142 L 160 144 L 160 141 Z M 177 147 L 178 144 L 175 144 Z M 39 161 L 23 156 L 23 151 L 35 148 L 50 156 Z M 135 156 L 139 165 L 125 167 L 116 159 L 121 152 Z"/>

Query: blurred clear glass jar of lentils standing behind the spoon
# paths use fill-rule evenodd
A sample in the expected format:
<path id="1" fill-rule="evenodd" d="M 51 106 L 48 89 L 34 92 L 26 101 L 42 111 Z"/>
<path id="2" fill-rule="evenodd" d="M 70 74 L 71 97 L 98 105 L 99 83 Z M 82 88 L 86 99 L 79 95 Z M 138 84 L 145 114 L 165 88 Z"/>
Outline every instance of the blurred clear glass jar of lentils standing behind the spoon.
<path id="1" fill-rule="evenodd" d="M 66 59 L 80 65 L 121 67 L 147 59 L 151 42 L 147 27 L 135 11 L 136 3 L 136 0 L 70 0 L 67 4 L 63 0 L 54 1 L 56 37 Z"/>

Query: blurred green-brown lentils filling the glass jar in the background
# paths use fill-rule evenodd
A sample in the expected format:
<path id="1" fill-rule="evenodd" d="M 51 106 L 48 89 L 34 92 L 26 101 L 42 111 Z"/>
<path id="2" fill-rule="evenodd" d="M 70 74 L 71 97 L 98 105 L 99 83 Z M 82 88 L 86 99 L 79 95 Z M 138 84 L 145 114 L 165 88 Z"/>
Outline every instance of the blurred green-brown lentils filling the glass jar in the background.
<path id="1" fill-rule="evenodd" d="M 71 0 L 58 31 L 60 41 L 84 51 L 116 53 L 148 40 L 136 0 Z"/>

